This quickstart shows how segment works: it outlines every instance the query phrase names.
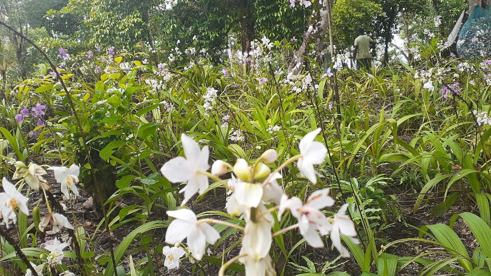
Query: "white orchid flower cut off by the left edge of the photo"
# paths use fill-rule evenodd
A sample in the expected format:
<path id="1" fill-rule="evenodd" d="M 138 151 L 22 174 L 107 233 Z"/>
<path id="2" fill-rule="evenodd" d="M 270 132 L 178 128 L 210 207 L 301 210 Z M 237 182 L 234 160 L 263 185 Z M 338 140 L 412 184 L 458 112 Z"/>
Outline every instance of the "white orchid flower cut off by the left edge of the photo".
<path id="1" fill-rule="evenodd" d="M 29 209 L 27 209 L 27 201 L 29 198 L 25 197 L 22 193 L 15 189 L 15 186 L 8 182 L 8 180 L 3 177 L 2 187 L 4 193 L 0 193 L 0 206 L 3 216 L 3 222 L 5 227 L 8 228 L 8 219 L 14 212 L 15 207 L 19 207 L 19 210 L 29 215 Z"/>

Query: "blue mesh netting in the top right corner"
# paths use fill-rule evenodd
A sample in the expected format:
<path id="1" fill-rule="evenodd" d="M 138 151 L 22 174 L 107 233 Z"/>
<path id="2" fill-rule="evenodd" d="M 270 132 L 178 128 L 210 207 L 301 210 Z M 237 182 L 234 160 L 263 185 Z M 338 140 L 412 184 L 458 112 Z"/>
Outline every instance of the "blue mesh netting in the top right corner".
<path id="1" fill-rule="evenodd" d="M 491 56 L 491 12 L 477 5 L 459 33 L 457 52 L 462 57 Z"/>

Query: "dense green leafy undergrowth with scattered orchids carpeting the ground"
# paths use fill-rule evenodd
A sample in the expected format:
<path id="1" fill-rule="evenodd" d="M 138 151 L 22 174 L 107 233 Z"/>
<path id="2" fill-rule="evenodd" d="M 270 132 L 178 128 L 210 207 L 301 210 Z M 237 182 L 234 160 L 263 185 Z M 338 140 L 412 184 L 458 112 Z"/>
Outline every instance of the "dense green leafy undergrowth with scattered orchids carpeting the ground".
<path id="1" fill-rule="evenodd" d="M 114 263 L 120 276 L 173 275 L 164 267 L 170 249 L 162 253 L 165 232 L 173 221 L 165 211 L 184 208 L 179 207 L 183 195 L 178 191 L 185 185 L 169 182 L 160 169 L 172 158 L 190 158 L 181 142 L 181 134 L 187 134 L 200 147 L 208 146 L 211 161 L 205 166 L 215 160 L 234 165 L 244 159 L 261 167 L 263 153 L 275 149 L 277 160 L 264 169 L 269 174 L 286 162 L 278 179 L 286 194 L 303 202 L 314 191 L 330 189 L 336 203 L 321 210 L 334 221 L 343 204 L 349 204 L 360 244 L 341 238 L 353 258 L 339 258 L 329 236 L 323 237 L 326 248 L 313 249 L 298 230 L 281 232 L 267 248 L 278 275 L 491 275 L 491 61 L 426 58 L 435 54 L 428 46 L 421 49 L 420 60 L 377 68 L 373 76 L 341 68 L 337 100 L 330 70 L 321 69 L 313 59 L 301 71 L 289 70 L 280 55 L 287 43 L 263 42 L 256 42 L 251 58 L 229 55 L 231 59 L 220 66 L 212 65 L 206 51 L 189 48 L 182 49 L 187 55 L 179 58 L 190 65 L 177 67 L 172 56 L 164 63 L 155 62 L 154 54 L 114 48 L 77 55 L 61 49 L 55 59 L 64 84 L 47 68 L 39 78 L 5 87 L 0 173 L 14 184 L 17 171 L 18 188 L 27 192 L 29 203 L 40 199 L 43 216 L 46 201 L 54 209 L 56 202 L 63 203 L 70 221 L 64 225 L 74 228 L 68 237 L 78 238 L 78 245 L 72 239 L 71 249 L 64 248 L 59 262 L 53 262 L 52 247 L 45 241 L 56 237 L 68 243 L 66 231 L 46 235 L 37 225 L 39 213 L 36 218 L 31 210 L 30 219 L 19 212 L 16 226 L 10 222 L 9 234 L 27 258 L 40 265 L 44 275 L 66 270 L 83 275 L 83 267 L 87 275 L 110 276 Z M 299 141 L 318 127 L 316 140 L 322 146 L 317 145 L 327 148 L 327 156 L 312 179 L 291 158 L 305 156 Z M 80 175 L 67 172 L 63 179 L 69 177 L 70 189 L 80 180 L 82 198 L 91 195 L 103 219 L 86 229 L 84 218 L 75 212 L 81 202 L 74 198 L 75 191 L 66 190 L 69 196 L 63 197 L 53 188 L 59 180 L 56 172 L 53 179 L 47 176 L 52 175 L 49 170 L 44 175 L 39 167 L 34 173 L 17 161 L 46 167 L 79 165 Z M 184 251 L 178 250 L 182 259 L 176 275 L 217 275 L 222 264 L 244 248 L 240 232 L 247 227 L 247 215 L 225 209 L 232 197 L 227 199 L 228 190 L 222 188 L 222 180 L 231 178 L 228 171 L 221 179 L 212 178 L 209 187 L 200 186 L 187 203 L 198 218 L 228 225 L 211 223 L 220 235 L 202 259 L 185 244 L 177 245 Z M 48 179 L 51 192 L 43 193 L 43 181 L 41 188 L 38 184 L 33 189 L 29 173 Z M 62 187 L 63 179 L 58 181 Z M 401 199 L 412 200 L 411 210 Z M 275 200 L 266 201 L 264 208 L 273 208 L 268 217 L 273 232 L 297 223 L 293 213 L 277 218 Z M 63 212 L 60 208 L 58 213 Z M 408 220 L 418 216 L 450 219 L 428 225 Z M 462 231 L 454 223 L 471 233 L 472 243 L 464 238 L 462 242 Z M 108 230 L 112 242 L 103 247 Z M 401 250 L 411 246 L 437 249 Z M 27 268 L 14 249 L 2 238 L 2 275 L 17 275 Z M 226 273 L 244 274 L 242 263 L 228 266 Z M 273 275 L 271 269 L 263 272 Z"/>

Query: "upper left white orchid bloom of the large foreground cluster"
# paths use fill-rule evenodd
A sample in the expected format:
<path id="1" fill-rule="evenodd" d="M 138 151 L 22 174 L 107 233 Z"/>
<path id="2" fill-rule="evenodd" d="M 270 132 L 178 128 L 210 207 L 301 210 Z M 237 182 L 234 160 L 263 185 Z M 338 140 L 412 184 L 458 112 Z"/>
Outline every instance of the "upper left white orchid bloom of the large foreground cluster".
<path id="1" fill-rule="evenodd" d="M 200 149 L 198 143 L 184 133 L 181 135 L 181 141 L 186 158 L 182 156 L 173 158 L 167 161 L 160 171 L 170 182 L 188 182 L 186 187 L 179 191 L 179 193 L 184 192 L 184 200 L 181 203 L 181 206 L 184 206 L 196 192 L 203 193 L 208 188 L 208 177 L 199 172 L 206 171 L 210 167 L 208 164 L 210 151 L 208 146 Z"/>

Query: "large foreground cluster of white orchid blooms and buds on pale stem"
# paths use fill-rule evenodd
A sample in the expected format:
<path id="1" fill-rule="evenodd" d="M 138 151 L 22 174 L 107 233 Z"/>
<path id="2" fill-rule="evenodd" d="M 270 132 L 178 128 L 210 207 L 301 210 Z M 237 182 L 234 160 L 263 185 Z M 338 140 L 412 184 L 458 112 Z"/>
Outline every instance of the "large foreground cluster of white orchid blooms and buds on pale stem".
<path id="1" fill-rule="evenodd" d="M 355 243 L 358 241 L 355 239 L 357 235 L 355 224 L 345 215 L 348 204 L 344 204 L 333 218 L 327 218 L 322 209 L 334 204 L 334 199 L 329 196 L 329 189 L 311 193 L 307 201 L 302 203 L 298 197 L 289 198 L 277 181 L 282 178 L 280 172 L 284 166 L 298 161 L 300 173 L 313 184 L 317 183 L 314 165 L 324 163 L 327 156 L 327 148 L 324 144 L 314 140 L 319 133 L 320 129 L 317 129 L 305 135 L 300 140 L 300 154 L 290 158 L 288 163 L 274 171 L 266 164 L 274 163 L 278 154 L 275 150 L 269 149 L 253 166 L 249 166 L 244 159 L 238 159 L 234 166 L 217 160 L 211 167 L 211 173 L 207 172 L 208 146 L 200 148 L 193 139 L 182 134 L 181 140 L 186 156 L 171 159 L 161 168 L 162 174 L 170 182 L 187 182 L 186 187 L 180 191 L 184 193 L 181 206 L 185 205 L 195 193 L 203 193 L 209 186 L 208 177 L 210 177 L 229 189 L 227 213 L 233 216 L 243 214 L 246 226 L 214 219 L 198 220 L 194 212 L 186 208 L 167 211 L 167 215 L 174 220 L 165 233 L 165 243 L 173 245 L 172 248 L 165 247 L 163 250 L 166 256 L 165 266 L 168 269 L 177 268 L 179 258 L 186 253 L 186 250 L 191 252 L 194 259 L 201 260 L 205 254 L 206 244 L 215 244 L 220 238 L 219 232 L 210 223 L 223 224 L 243 232 L 242 248 L 236 259 L 245 265 L 246 276 L 276 275 L 270 257 L 273 237 L 295 228 L 299 228 L 300 234 L 307 243 L 315 248 L 324 247 L 322 236 L 330 235 L 333 246 L 343 257 L 349 257 L 348 250 L 341 244 L 341 234 Z M 227 173 L 228 169 L 233 172 L 228 182 L 218 178 L 219 175 Z M 276 207 L 267 209 L 266 205 L 273 203 Z M 284 212 L 289 210 L 298 223 L 272 233 L 274 224 L 272 213 L 276 210 L 279 220 Z M 186 250 L 180 248 L 181 245 L 184 246 L 181 244 L 184 239 L 187 239 Z M 218 276 L 223 276 L 225 269 L 226 265 L 220 269 Z"/>

